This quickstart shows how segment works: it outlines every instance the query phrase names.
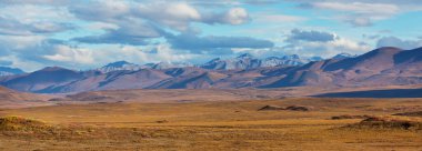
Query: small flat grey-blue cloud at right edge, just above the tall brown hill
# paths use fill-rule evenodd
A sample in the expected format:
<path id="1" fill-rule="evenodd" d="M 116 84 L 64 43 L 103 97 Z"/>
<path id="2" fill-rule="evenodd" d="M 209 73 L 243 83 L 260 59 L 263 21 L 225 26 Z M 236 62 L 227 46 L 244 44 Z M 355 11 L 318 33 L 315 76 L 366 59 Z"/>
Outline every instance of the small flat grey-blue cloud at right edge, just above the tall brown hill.
<path id="1" fill-rule="evenodd" d="M 396 37 L 383 37 L 378 40 L 376 47 L 396 47 L 401 49 L 415 49 L 422 47 L 422 40 L 402 40 Z"/>

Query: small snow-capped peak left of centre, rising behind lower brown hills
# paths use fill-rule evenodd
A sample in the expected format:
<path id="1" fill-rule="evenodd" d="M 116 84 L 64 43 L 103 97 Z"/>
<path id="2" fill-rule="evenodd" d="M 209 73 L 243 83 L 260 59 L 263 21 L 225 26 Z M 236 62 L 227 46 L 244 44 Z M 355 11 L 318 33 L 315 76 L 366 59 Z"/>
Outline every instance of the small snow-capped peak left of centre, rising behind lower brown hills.
<path id="1" fill-rule="evenodd" d="M 100 71 L 102 73 L 108 73 L 108 72 L 121 71 L 121 70 L 137 71 L 140 69 L 142 69 L 141 66 L 130 63 L 127 61 L 118 61 L 118 62 L 109 63 L 102 68 L 99 68 L 99 69 L 97 69 L 97 71 Z"/>

